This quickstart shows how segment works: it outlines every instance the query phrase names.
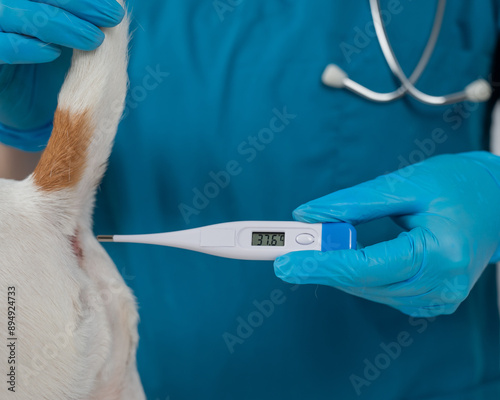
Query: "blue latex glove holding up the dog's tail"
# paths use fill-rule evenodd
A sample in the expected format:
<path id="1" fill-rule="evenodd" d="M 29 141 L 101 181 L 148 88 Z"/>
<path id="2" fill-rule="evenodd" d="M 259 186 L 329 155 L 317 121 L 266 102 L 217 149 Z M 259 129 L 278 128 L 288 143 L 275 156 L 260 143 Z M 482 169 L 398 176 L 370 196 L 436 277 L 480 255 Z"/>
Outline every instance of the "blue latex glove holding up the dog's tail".
<path id="1" fill-rule="evenodd" d="M 71 49 L 97 48 L 123 15 L 115 0 L 0 0 L 0 142 L 41 150 Z"/>

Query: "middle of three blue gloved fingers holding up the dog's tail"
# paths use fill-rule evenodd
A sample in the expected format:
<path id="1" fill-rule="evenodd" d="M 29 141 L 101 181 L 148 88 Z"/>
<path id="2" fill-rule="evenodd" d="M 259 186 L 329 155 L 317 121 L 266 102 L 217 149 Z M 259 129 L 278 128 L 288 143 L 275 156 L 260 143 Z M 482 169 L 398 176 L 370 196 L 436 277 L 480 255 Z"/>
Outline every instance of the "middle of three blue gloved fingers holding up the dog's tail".
<path id="1" fill-rule="evenodd" d="M 12 3 L 10 7 L 7 3 Z M 104 40 L 104 33 L 60 8 L 25 0 L 2 0 L 0 30 L 36 37 L 79 50 L 94 50 Z M 2 49 L 3 51 L 3 49 Z"/>

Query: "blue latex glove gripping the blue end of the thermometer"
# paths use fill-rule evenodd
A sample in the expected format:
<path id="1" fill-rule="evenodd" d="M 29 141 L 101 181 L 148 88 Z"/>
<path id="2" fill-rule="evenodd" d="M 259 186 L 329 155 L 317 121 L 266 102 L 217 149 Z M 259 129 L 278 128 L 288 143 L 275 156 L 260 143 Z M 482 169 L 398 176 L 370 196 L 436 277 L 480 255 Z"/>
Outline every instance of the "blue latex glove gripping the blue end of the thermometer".
<path id="1" fill-rule="evenodd" d="M 287 254 L 276 259 L 276 275 L 413 316 L 453 313 L 487 264 L 500 259 L 500 157 L 430 158 L 294 211 L 304 222 L 358 224 L 385 216 L 408 232 L 362 250 Z"/>

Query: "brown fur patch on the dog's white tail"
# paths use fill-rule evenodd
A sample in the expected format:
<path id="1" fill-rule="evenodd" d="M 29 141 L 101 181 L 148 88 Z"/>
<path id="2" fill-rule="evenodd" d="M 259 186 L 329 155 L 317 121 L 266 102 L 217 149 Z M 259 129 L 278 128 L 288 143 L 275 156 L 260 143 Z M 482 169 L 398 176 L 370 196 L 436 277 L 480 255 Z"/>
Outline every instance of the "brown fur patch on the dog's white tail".
<path id="1" fill-rule="evenodd" d="M 42 190 L 71 188 L 80 181 L 93 130 L 88 112 L 56 110 L 52 136 L 33 173 Z"/>

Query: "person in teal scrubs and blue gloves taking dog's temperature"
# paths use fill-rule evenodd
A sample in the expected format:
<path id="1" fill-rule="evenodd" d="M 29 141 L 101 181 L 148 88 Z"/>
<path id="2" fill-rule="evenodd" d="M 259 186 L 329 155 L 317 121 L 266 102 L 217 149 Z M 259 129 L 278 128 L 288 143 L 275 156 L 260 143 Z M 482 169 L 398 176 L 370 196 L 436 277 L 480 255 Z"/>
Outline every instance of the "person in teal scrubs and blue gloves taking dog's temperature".
<path id="1" fill-rule="evenodd" d="M 59 2 L 31 6 L 38 3 Z M 61 7 L 112 25 L 120 13 L 101 12 L 104 3 Z M 397 88 L 367 1 L 132 0 L 128 7 L 130 90 L 98 195 L 96 233 L 290 220 L 298 206 L 334 193 L 295 218 L 356 223 L 368 246 L 293 255 L 274 267 L 107 246 L 138 299 L 148 399 L 500 398 L 496 273 L 486 266 L 499 259 L 500 159 L 471 153 L 488 149 L 492 102 L 376 104 L 324 86 L 325 66 L 336 63 L 373 90 Z M 382 7 L 410 74 L 436 2 Z M 499 11 L 499 1 L 449 2 L 417 86 L 438 95 L 491 78 Z M 83 35 L 57 21 L 49 25 L 58 35 L 45 33 L 46 42 L 98 45 L 91 24 Z M 23 46 L 31 59 L 0 58 L 41 62 L 60 51 Z M 50 71 L 67 65 L 66 53 L 36 67 L 1 67 L 0 141 L 25 151 L 45 144 L 62 80 Z"/>

